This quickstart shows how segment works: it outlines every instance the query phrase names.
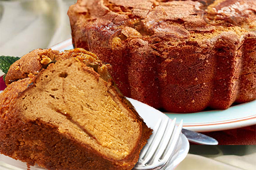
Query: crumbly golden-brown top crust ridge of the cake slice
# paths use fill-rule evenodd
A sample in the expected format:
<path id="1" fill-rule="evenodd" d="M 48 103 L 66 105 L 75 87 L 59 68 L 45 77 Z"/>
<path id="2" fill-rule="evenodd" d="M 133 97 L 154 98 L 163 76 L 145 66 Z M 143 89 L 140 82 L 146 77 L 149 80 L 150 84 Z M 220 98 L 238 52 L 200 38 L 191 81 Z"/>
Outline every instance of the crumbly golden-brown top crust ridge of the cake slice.
<path id="1" fill-rule="evenodd" d="M 5 78 L 6 85 L 18 79 L 26 78 L 29 74 L 38 75 L 40 70 L 46 68 L 49 63 L 58 59 L 69 59 L 70 57 L 74 57 L 87 66 L 94 68 L 105 81 L 111 79 L 111 75 L 108 73 L 108 69 L 111 69 L 111 66 L 107 63 L 103 64 L 95 54 L 83 48 L 75 48 L 64 52 L 38 48 L 24 55 L 10 66 Z"/>

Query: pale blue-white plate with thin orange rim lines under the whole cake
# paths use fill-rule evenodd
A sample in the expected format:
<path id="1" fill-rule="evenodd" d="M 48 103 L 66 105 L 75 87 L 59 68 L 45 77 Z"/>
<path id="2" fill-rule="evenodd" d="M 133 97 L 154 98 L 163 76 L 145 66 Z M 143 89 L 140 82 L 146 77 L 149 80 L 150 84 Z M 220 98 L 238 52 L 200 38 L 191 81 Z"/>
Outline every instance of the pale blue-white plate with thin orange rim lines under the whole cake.
<path id="1" fill-rule="evenodd" d="M 72 48 L 71 38 L 52 46 L 52 49 L 59 51 Z M 137 107 L 140 107 L 141 104 L 139 102 Z M 227 110 L 201 111 L 197 113 L 166 113 L 166 115 L 171 119 L 176 117 L 177 124 L 183 119 L 183 127 L 188 130 L 197 132 L 227 130 L 256 124 L 256 100 L 232 106 Z"/>

